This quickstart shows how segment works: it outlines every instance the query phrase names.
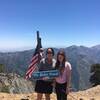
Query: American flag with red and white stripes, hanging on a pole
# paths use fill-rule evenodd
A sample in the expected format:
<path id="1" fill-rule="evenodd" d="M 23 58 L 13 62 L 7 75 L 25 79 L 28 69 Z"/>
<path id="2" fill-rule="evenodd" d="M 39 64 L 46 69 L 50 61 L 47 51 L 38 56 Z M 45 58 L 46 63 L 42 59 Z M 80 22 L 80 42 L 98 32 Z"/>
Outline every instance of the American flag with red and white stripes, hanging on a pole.
<path id="1" fill-rule="evenodd" d="M 40 61 L 40 48 L 42 48 L 41 45 L 41 38 L 39 37 L 39 32 L 37 31 L 37 46 L 35 49 L 35 53 L 33 54 L 33 57 L 31 59 L 31 62 L 28 66 L 28 70 L 26 72 L 25 79 L 31 78 L 32 73 L 38 68 L 37 64 Z"/>

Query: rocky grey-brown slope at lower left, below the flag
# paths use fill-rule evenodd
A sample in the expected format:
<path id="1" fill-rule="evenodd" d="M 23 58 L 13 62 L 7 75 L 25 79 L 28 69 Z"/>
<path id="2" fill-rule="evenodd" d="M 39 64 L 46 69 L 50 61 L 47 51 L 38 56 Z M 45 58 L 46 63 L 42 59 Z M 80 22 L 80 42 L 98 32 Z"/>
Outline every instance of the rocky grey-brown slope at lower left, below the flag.
<path id="1" fill-rule="evenodd" d="M 0 92 L 32 93 L 34 84 L 15 73 L 0 73 Z"/>

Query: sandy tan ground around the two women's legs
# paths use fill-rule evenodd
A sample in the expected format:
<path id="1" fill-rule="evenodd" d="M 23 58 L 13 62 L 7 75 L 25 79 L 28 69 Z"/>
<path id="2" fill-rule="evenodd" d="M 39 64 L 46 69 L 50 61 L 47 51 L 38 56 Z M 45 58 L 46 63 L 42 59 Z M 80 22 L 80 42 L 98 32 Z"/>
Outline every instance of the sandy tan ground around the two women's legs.
<path id="1" fill-rule="evenodd" d="M 83 100 L 100 100 L 100 85 L 90 88 L 88 90 L 73 92 L 68 95 L 68 100 L 79 100 L 80 98 L 82 98 Z M 31 94 L 0 93 L 0 100 L 36 100 L 36 93 L 31 93 Z M 56 100 L 56 96 L 54 93 L 51 95 L 51 100 Z"/>

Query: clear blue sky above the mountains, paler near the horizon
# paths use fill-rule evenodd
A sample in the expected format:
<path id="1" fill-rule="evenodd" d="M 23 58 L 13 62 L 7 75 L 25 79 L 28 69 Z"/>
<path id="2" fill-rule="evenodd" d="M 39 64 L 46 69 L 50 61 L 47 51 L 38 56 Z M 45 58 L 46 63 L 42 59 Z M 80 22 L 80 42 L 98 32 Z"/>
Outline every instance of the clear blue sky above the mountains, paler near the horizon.
<path id="1" fill-rule="evenodd" d="M 0 0 L 0 50 L 100 44 L 99 0 Z"/>

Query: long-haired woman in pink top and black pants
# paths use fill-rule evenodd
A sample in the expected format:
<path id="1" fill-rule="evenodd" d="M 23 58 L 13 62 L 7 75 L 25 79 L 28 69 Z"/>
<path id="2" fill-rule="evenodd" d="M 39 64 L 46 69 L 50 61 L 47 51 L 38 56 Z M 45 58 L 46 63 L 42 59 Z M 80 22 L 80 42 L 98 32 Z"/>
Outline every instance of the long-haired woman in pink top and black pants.
<path id="1" fill-rule="evenodd" d="M 56 77 L 56 95 L 57 100 L 67 100 L 67 94 L 69 93 L 69 86 L 71 81 L 71 64 L 66 61 L 64 51 L 57 53 L 56 69 L 60 71 L 60 75 Z"/>

